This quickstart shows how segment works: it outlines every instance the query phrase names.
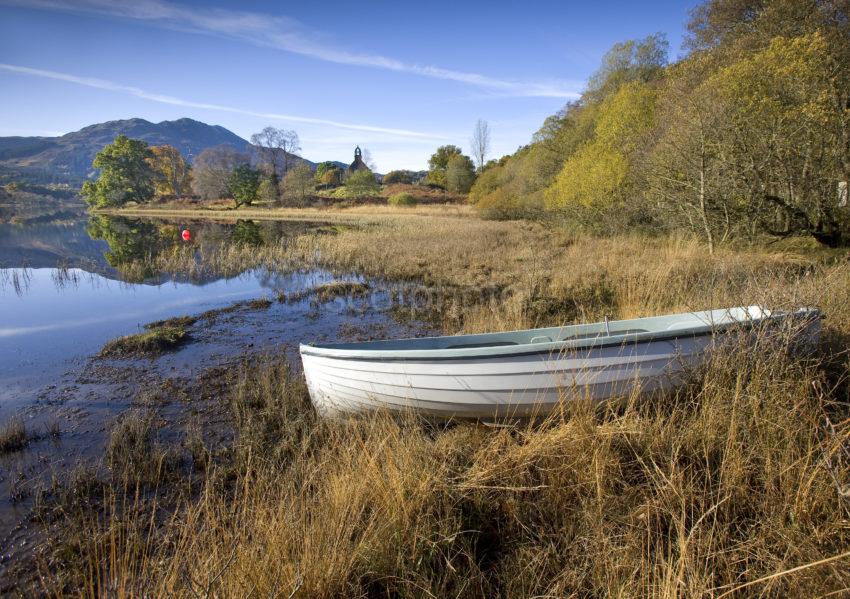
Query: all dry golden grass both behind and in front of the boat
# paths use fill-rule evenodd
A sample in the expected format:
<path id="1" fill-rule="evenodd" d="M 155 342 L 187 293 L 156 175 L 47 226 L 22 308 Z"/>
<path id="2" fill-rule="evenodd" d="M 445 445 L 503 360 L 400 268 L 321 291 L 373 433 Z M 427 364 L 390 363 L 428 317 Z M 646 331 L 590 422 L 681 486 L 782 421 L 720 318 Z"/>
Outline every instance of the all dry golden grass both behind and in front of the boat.
<path id="1" fill-rule="evenodd" d="M 246 363 L 221 396 L 235 431 L 225 450 L 187 430 L 171 453 L 151 451 L 153 420 L 117 425 L 106 467 L 120 476 L 92 487 L 89 509 L 78 501 L 65 510 L 66 533 L 43 567 L 46 590 L 743 597 L 850 589 L 850 267 L 840 255 L 721 248 L 709 256 L 686 238 L 596 239 L 455 215 L 355 217 L 356 227 L 273 246 L 201 241 L 160 256 L 159 266 L 189 268 L 197 251 L 213 269 L 318 265 L 407 280 L 421 295 L 415 307 L 438 314 L 449 332 L 817 305 L 827 316 L 824 342 L 809 358 L 781 343 L 730 348 L 675 395 L 617 407 L 571 402 L 543 425 L 510 430 L 435 429 L 382 415 L 321 421 L 299 375 L 276 360 Z M 141 463 L 145 456 L 155 463 Z M 181 467 L 194 486 L 173 482 Z M 180 491 L 165 501 L 169 488 Z"/>

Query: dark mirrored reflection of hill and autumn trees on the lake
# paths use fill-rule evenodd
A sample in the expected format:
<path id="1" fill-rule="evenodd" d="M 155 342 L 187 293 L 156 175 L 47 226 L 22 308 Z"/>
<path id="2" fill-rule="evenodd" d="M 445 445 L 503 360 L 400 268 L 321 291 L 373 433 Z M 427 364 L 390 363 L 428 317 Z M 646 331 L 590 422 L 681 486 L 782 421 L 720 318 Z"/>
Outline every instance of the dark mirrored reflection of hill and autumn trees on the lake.
<path id="1" fill-rule="evenodd" d="M 192 222 L 105 215 L 29 219 L 0 223 L 0 293 L 27 292 L 31 268 L 53 268 L 57 287 L 76 285 L 75 269 L 132 284 L 168 280 L 206 284 L 238 272 L 215 272 L 202 254 L 228 246 L 261 247 L 285 242 L 319 223 L 236 220 Z M 191 231 L 189 240 L 181 233 Z M 168 264 L 168 268 L 163 264 Z M 238 271 L 247 270 L 235 265 Z M 77 276 L 78 275 L 74 275 Z"/>

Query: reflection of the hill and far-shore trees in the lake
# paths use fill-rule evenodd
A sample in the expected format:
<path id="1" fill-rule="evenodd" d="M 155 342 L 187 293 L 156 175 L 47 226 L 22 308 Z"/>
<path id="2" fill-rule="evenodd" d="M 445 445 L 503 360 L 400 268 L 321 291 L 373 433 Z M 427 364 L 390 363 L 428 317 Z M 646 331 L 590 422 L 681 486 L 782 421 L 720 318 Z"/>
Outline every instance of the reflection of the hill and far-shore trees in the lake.
<path id="1" fill-rule="evenodd" d="M 0 268 L 79 268 L 116 281 L 149 285 L 169 280 L 203 285 L 223 278 L 206 269 L 191 274 L 154 270 L 152 264 L 160 252 L 185 244 L 180 238 L 183 227 L 192 231 L 197 252 L 200 247 L 209 250 L 228 244 L 274 244 L 314 228 L 315 223 L 178 222 L 57 212 L 0 224 Z"/>

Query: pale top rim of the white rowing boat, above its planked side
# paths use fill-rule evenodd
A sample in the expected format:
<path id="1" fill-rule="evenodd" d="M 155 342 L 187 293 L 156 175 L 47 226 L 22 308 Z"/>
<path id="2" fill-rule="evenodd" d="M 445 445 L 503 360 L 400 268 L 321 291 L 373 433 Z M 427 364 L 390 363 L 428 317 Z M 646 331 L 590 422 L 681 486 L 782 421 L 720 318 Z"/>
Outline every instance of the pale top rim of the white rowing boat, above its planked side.
<path id="1" fill-rule="evenodd" d="M 517 345 L 494 345 L 489 347 L 469 347 L 469 348 L 430 348 L 430 349 L 362 349 L 344 347 L 323 347 L 321 345 L 300 344 L 299 352 L 302 356 L 315 356 L 322 358 L 332 358 L 337 360 L 356 360 L 356 361 L 460 361 L 474 360 L 481 358 L 499 358 L 499 357 L 516 357 L 530 356 L 540 354 L 557 354 L 564 351 L 581 350 L 581 349 L 603 349 L 609 347 L 622 347 L 626 345 L 639 345 L 643 343 L 663 342 L 670 339 L 693 339 L 714 335 L 718 332 L 724 332 L 730 328 L 750 329 L 757 324 L 768 322 L 779 322 L 788 318 L 791 319 L 806 319 L 822 317 L 820 311 L 816 308 L 800 308 L 793 312 L 774 312 L 763 309 L 761 306 L 738 306 L 735 308 L 726 308 L 719 310 L 705 310 L 702 312 L 683 312 L 681 315 L 707 315 L 713 312 L 727 312 L 732 310 L 743 310 L 746 315 L 750 314 L 752 309 L 761 311 L 762 316 L 746 317 L 742 319 L 733 319 L 724 323 L 711 323 L 701 326 L 693 326 L 681 329 L 664 330 L 664 331 L 646 331 L 642 333 L 627 333 L 623 335 L 605 335 L 600 333 L 594 337 L 583 339 L 563 339 L 560 341 L 552 341 L 548 343 L 523 343 Z M 650 318 L 663 318 L 665 316 L 676 316 L 676 314 L 667 314 L 660 317 L 650 316 L 645 318 L 636 318 L 629 320 L 611 321 L 609 325 L 619 325 L 622 323 L 634 323 Z M 590 323 L 600 324 L 600 323 Z M 568 325 L 568 326 L 583 326 L 583 325 Z M 555 328 L 568 327 L 545 327 L 542 329 L 523 329 L 518 331 L 505 331 L 504 334 L 523 333 L 528 331 L 545 331 Z M 439 337 L 420 337 L 418 339 L 439 339 L 444 337 L 465 337 L 474 335 L 444 335 Z"/>

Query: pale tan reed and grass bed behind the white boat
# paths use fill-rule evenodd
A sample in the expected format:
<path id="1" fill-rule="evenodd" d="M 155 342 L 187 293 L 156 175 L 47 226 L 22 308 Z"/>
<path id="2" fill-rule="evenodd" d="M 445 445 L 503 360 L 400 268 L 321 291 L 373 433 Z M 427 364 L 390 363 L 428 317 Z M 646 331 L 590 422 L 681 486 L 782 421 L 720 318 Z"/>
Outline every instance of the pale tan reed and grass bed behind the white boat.
<path id="1" fill-rule="evenodd" d="M 847 313 L 840 299 L 848 278 L 843 252 L 763 245 L 709 255 L 688 237 L 595 238 L 546 223 L 481 220 L 456 207 L 264 214 L 350 226 L 250 251 L 200 240 L 158 256 L 155 267 L 235 274 L 251 266 L 319 266 L 415 282 L 418 301 L 442 317 L 447 332 L 749 304 L 803 302 Z"/>

